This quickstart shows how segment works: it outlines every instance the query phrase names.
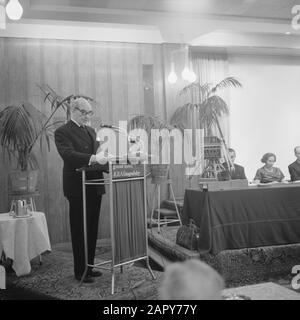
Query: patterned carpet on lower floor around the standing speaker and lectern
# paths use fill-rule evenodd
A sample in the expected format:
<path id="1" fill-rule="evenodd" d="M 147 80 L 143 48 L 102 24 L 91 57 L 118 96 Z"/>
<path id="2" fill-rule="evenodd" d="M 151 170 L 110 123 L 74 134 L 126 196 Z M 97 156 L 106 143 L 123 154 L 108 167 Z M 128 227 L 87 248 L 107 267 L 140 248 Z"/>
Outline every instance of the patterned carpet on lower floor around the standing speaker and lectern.
<path id="1" fill-rule="evenodd" d="M 74 279 L 73 258 L 70 244 L 53 246 L 51 253 L 43 255 L 43 263 L 33 260 L 30 275 L 17 277 L 7 274 L 7 290 L 4 299 L 65 299 L 65 300 L 105 300 L 105 299 L 155 299 L 161 273 L 154 271 L 153 281 L 148 269 L 143 265 L 124 266 L 123 274 L 116 269 L 115 295 L 111 295 L 111 273 L 103 270 L 103 275 L 92 284 L 82 284 Z M 102 260 L 110 257 L 107 244 L 97 246 L 96 256 Z M 4 295 L 4 293 L 2 293 Z"/>

